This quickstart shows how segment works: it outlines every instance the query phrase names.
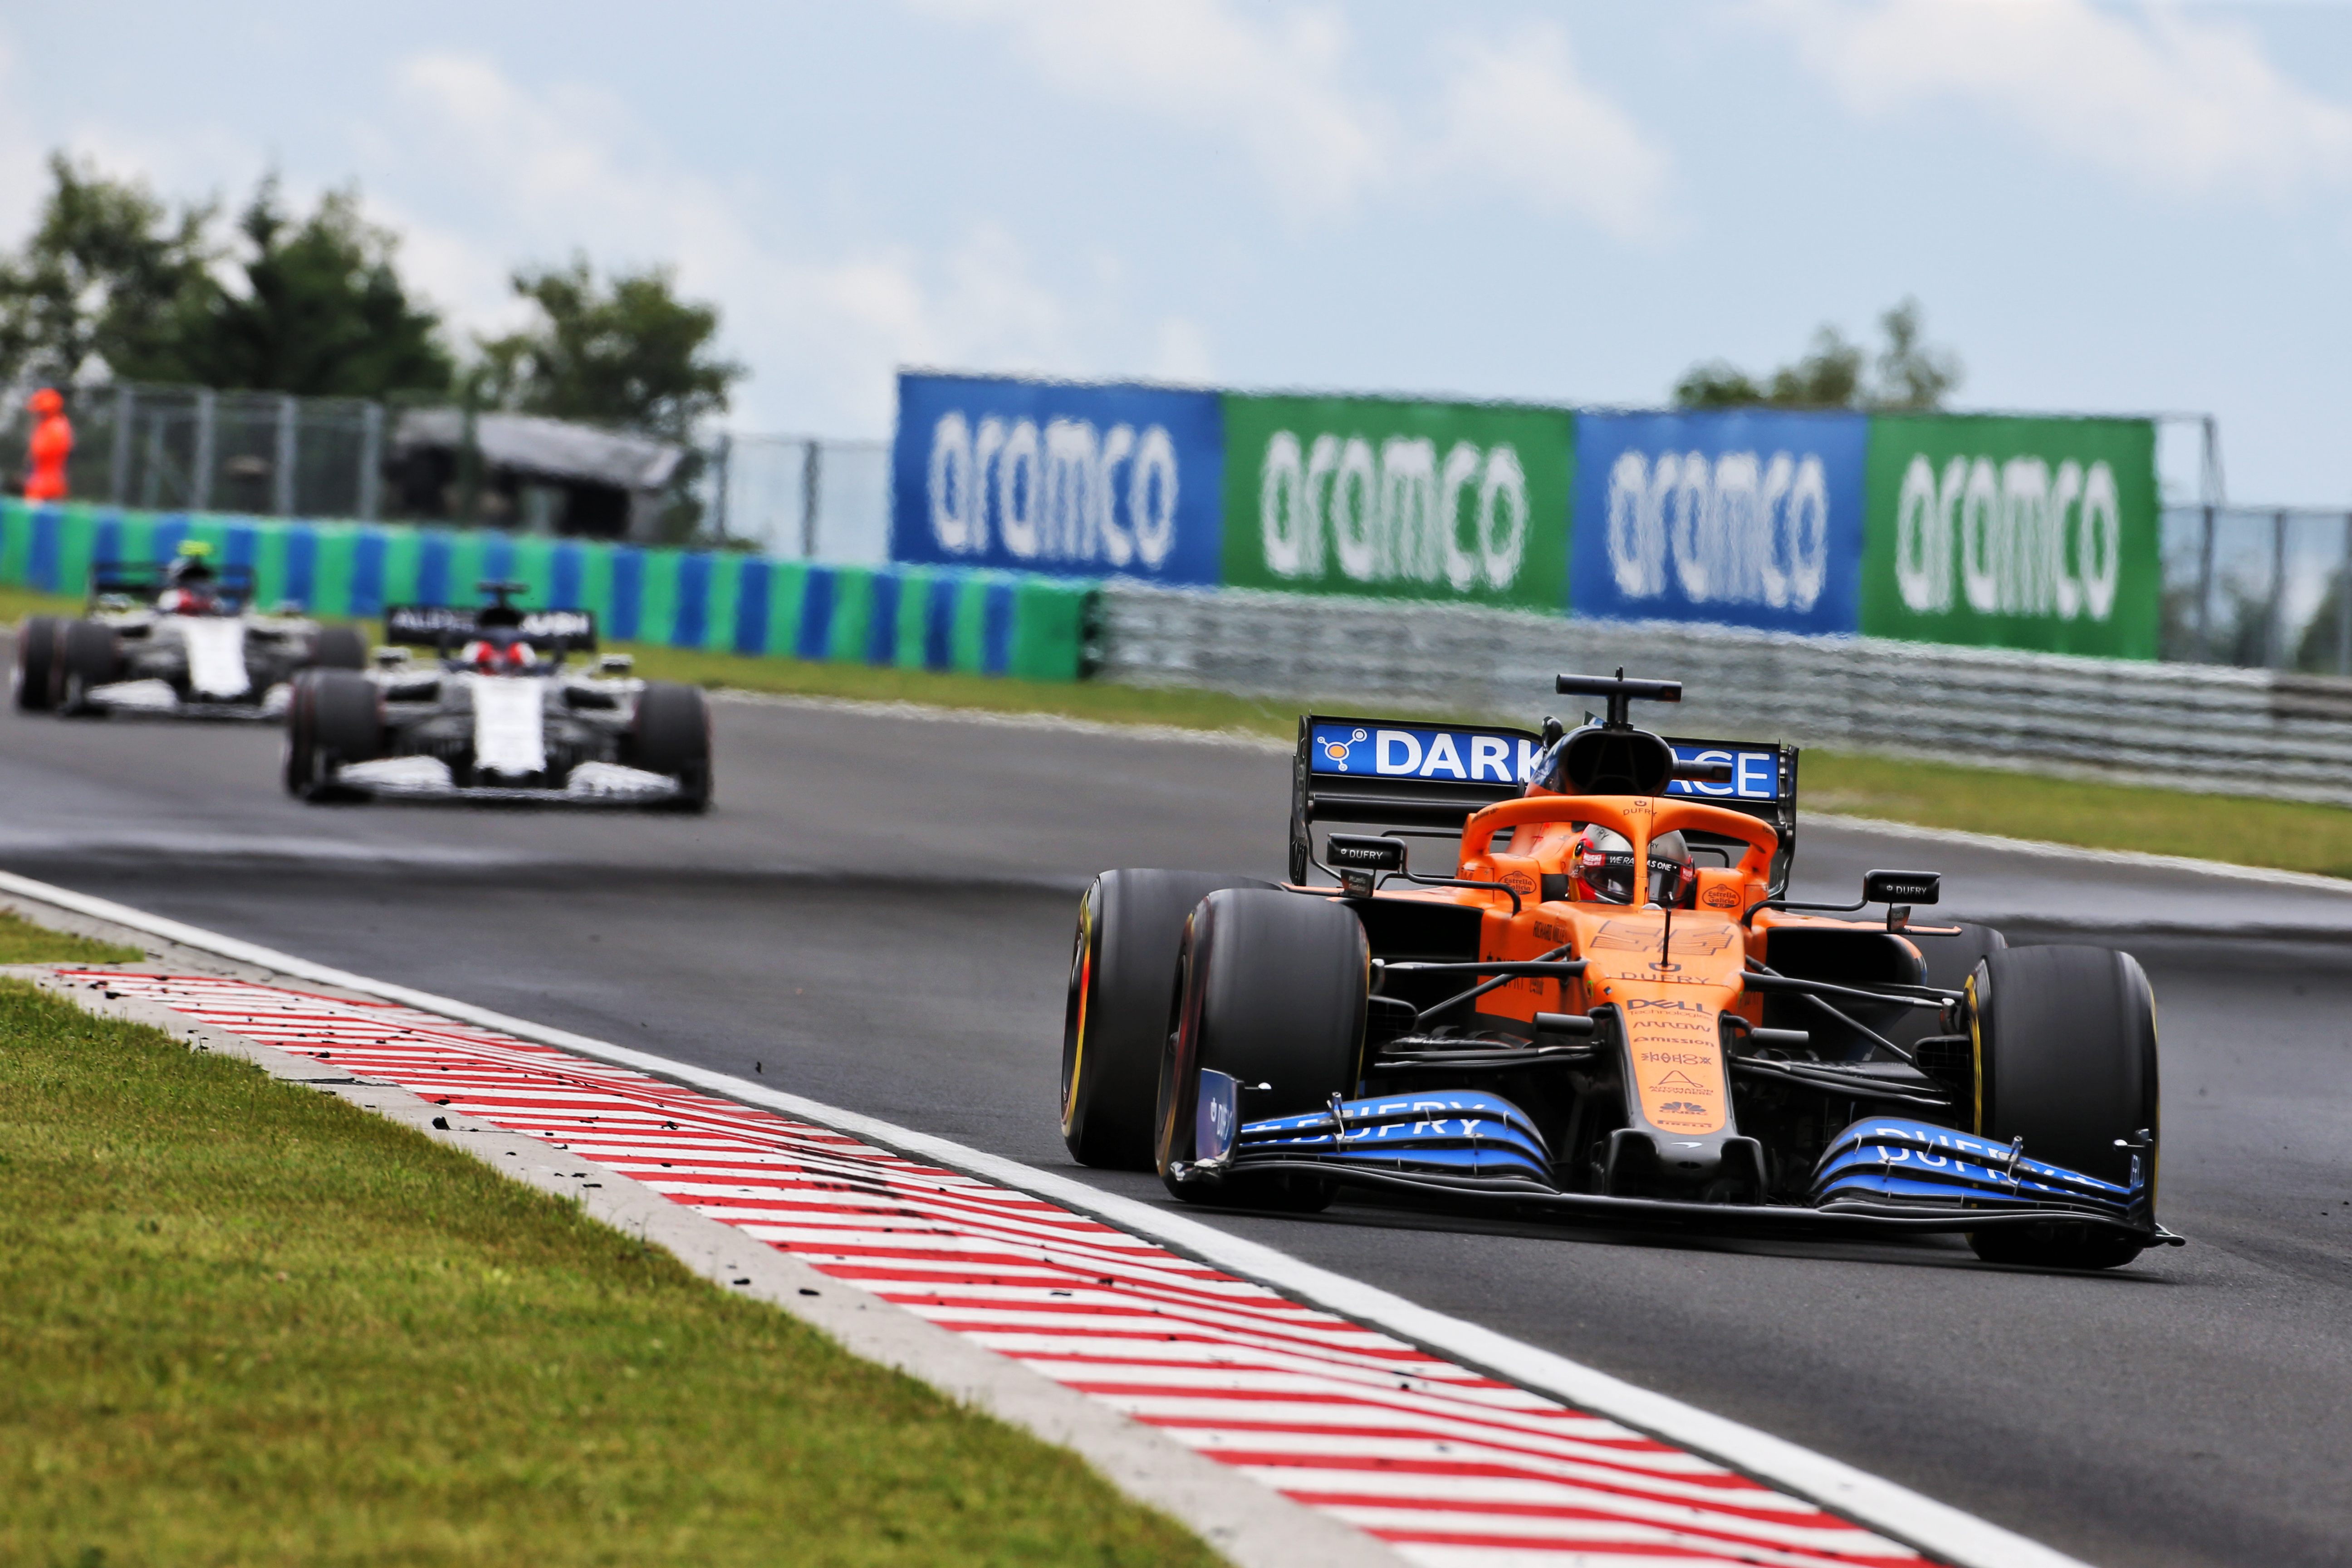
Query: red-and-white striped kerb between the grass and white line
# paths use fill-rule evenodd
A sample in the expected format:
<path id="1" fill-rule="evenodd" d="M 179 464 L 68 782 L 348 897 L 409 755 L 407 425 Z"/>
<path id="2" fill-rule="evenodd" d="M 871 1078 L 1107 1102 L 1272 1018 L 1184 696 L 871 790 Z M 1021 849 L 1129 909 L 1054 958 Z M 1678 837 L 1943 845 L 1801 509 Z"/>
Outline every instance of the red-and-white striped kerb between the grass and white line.
<path id="1" fill-rule="evenodd" d="M 1432 1568 L 1924 1561 L 1611 1420 L 823 1126 L 395 1004 L 64 973 L 628 1173 Z"/>

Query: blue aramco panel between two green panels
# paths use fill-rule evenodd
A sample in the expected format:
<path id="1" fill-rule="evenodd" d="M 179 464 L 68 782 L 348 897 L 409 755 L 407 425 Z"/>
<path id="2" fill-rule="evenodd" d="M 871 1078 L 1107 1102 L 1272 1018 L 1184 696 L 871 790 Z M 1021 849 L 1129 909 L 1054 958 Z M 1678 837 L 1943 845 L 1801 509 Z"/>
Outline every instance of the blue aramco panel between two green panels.
<path id="1" fill-rule="evenodd" d="M 1578 414 L 1571 611 L 1856 632 L 1867 444 L 1863 414 Z"/>

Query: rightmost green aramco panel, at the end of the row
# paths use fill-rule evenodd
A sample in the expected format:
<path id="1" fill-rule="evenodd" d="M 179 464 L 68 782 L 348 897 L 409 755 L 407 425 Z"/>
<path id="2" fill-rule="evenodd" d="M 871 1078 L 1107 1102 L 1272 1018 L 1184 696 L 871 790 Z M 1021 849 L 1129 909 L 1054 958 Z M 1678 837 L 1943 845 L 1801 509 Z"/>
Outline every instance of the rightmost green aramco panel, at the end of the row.
<path id="1" fill-rule="evenodd" d="M 1863 635 L 2154 658 L 2157 428 L 1870 421 Z"/>

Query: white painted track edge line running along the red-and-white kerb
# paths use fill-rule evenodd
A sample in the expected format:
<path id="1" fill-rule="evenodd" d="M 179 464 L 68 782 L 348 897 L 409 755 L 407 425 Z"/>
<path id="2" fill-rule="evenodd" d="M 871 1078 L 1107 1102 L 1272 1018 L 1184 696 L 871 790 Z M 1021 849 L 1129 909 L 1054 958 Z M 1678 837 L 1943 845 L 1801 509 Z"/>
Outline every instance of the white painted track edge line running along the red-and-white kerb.
<path id="1" fill-rule="evenodd" d="M 1809 1497 L 1830 1512 L 1865 1523 L 1872 1530 L 1926 1552 L 1929 1556 L 1957 1563 L 1959 1568 L 2089 1568 L 2079 1559 L 2065 1556 L 2063 1552 L 2044 1547 L 2037 1540 L 1966 1514 L 1947 1502 L 1936 1502 L 1924 1493 L 1915 1493 L 1907 1486 L 1875 1476 L 1865 1469 L 1846 1465 L 1844 1460 L 1832 1460 L 1769 1432 L 1712 1415 L 1668 1394 L 1653 1394 L 1599 1368 L 1583 1366 L 1581 1361 L 1571 1361 L 1534 1345 L 1522 1345 L 1519 1340 L 1484 1328 L 1482 1324 L 1470 1324 L 1465 1319 L 1421 1307 L 1402 1295 L 1348 1279 L 1345 1274 L 1334 1274 L 1258 1241 L 1244 1241 L 1242 1237 L 1232 1237 L 1200 1220 L 1188 1220 L 1136 1199 L 1101 1192 L 1068 1175 L 1037 1171 L 1035 1166 L 1004 1159 L 1002 1154 L 988 1154 L 950 1138 L 917 1133 L 915 1128 L 823 1105 L 821 1100 L 807 1100 L 779 1088 L 767 1088 L 764 1084 L 753 1084 L 724 1072 L 710 1072 L 708 1067 L 694 1067 L 649 1051 L 614 1046 L 569 1030 L 553 1030 L 548 1025 L 510 1018 L 492 1009 L 473 1006 L 470 1001 L 437 997 L 409 985 L 372 980 L 329 964 L 313 964 L 310 959 L 261 947 L 259 943 L 205 931 L 202 926 L 188 926 L 162 914 L 148 914 L 146 910 L 113 903 L 111 898 L 94 898 L 89 893 L 75 893 L 73 889 L 35 882 L 33 877 L 19 877 L 16 872 L 0 870 L 0 891 L 35 898 L 92 919 L 115 922 L 120 926 L 146 931 L 183 947 L 214 952 L 240 964 L 254 964 L 320 985 L 336 985 L 360 994 L 381 997 L 383 1001 L 397 1001 L 426 1013 L 440 1013 L 442 1018 L 503 1030 L 560 1051 L 574 1051 L 593 1060 L 614 1063 L 616 1067 L 635 1067 L 637 1072 L 649 1072 L 677 1084 L 708 1088 L 729 1100 L 781 1110 L 856 1138 L 870 1138 L 873 1143 L 896 1147 L 908 1154 L 936 1159 L 943 1166 L 983 1175 L 1007 1187 L 1018 1187 L 1035 1197 L 1091 1213 L 1117 1229 L 1181 1248 L 1204 1262 L 1214 1262 L 1216 1267 L 1256 1279 L 1291 1295 L 1301 1295 L 1359 1324 L 1383 1328 L 1402 1340 L 1468 1361 L 1475 1368 L 1494 1371 L 1522 1387 L 1555 1394 L 1557 1399 L 1564 1399 L 1583 1410 L 1606 1415 L 1668 1443 L 1712 1458 L 1748 1476 L 1797 1493 L 1799 1497 Z"/>

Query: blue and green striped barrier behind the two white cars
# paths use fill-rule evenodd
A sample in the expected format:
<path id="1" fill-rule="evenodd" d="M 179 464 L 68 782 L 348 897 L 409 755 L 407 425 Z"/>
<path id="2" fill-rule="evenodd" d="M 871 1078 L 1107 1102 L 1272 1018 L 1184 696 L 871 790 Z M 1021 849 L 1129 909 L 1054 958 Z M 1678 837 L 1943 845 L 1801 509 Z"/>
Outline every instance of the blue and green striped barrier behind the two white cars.
<path id="1" fill-rule="evenodd" d="M 80 595 L 92 562 L 162 562 L 183 538 L 252 567 L 261 604 L 327 621 L 372 621 L 386 604 L 475 604 L 475 583 L 510 578 L 529 585 L 529 607 L 595 611 L 612 642 L 1047 682 L 1087 672 L 1089 583 L 957 567 L 7 501 L 0 583 Z"/>

